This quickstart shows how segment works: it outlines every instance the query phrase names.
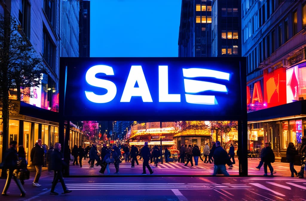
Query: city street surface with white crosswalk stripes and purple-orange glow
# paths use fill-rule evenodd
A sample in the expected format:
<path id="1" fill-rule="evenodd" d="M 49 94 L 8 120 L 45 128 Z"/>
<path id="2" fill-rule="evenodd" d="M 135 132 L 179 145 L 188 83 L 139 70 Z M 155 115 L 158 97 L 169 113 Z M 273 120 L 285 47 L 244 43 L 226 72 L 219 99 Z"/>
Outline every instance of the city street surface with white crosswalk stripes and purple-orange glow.
<path id="1" fill-rule="evenodd" d="M 122 162 L 120 175 L 114 175 L 112 164 L 111 174 L 104 176 L 99 173 L 99 167 L 89 168 L 87 160 L 83 160 L 82 168 L 71 165 L 71 161 L 70 174 L 83 175 L 64 178 L 72 193 L 61 194 L 63 190 L 58 183 L 55 191 L 59 192 L 59 195 L 50 195 L 53 173 L 45 170 L 39 180 L 41 187 L 32 186 L 35 172 L 31 172 L 30 180 L 26 180 L 24 184 L 27 192 L 24 198 L 19 197 L 17 185 L 12 181 L 7 192 L 9 196 L 1 196 L 1 200 L 306 200 L 306 180 L 289 177 L 287 163 L 273 163 L 277 172 L 275 176 L 263 177 L 261 176 L 263 168 L 260 171 L 253 168 L 259 160 L 248 160 L 248 162 L 249 174 L 252 176 L 213 177 L 211 176 L 213 164 L 203 164 L 202 161 L 198 167 L 185 167 L 177 162 L 159 164 L 153 169 L 152 175 L 140 175 L 141 163 L 131 168 L 129 162 Z M 170 165 L 174 168 L 170 168 Z M 168 166 L 169 168 L 165 168 Z M 295 168 L 298 170 L 300 166 Z M 228 171 L 230 174 L 235 174 L 237 169 L 234 167 Z M 202 175 L 203 172 L 207 175 L 190 176 Z M 171 174 L 173 176 L 166 176 Z M 179 174 L 182 175 L 178 176 Z M 5 179 L 0 180 L 1 189 L 5 181 Z"/>

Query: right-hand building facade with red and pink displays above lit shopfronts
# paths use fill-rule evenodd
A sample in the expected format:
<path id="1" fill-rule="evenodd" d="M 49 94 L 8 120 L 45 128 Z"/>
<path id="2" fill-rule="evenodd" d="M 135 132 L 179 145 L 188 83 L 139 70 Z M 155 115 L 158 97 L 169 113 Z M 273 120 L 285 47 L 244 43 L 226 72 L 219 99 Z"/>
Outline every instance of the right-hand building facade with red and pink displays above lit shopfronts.
<path id="1" fill-rule="evenodd" d="M 271 142 L 282 161 L 306 131 L 305 28 L 305 0 L 242 0 L 249 150 Z"/>

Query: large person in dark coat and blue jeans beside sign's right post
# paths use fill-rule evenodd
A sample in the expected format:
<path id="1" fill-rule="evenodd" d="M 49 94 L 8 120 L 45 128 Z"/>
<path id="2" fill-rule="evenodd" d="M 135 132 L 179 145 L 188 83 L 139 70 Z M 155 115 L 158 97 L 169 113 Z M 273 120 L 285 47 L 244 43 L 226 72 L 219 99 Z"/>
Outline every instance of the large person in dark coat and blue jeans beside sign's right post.
<path id="1" fill-rule="evenodd" d="M 216 175 L 220 171 L 225 176 L 229 176 L 229 173 L 226 171 L 225 164 L 228 164 L 230 167 L 233 167 L 233 165 L 231 165 L 230 157 L 226 153 L 226 151 L 221 147 L 221 143 L 219 141 L 215 143 L 213 158 L 214 158 L 213 175 Z"/>

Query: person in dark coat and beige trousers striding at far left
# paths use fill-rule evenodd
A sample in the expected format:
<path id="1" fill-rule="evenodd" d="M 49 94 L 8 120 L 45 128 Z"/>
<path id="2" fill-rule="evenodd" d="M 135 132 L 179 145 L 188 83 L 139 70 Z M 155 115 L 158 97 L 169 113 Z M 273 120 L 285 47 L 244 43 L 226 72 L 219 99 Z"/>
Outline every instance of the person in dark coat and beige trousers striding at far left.
<path id="1" fill-rule="evenodd" d="M 9 149 L 6 151 L 6 153 L 4 154 L 3 157 L 3 166 L 4 168 L 7 169 L 7 178 L 6 178 L 6 183 L 5 186 L 3 188 L 2 191 L 2 196 L 6 196 L 8 194 L 6 194 L 7 190 L 9 189 L 9 184 L 11 183 L 12 177 L 13 180 L 16 182 L 20 192 L 21 192 L 21 197 L 25 196 L 25 191 L 24 188 L 21 184 L 21 181 L 19 179 L 17 179 L 17 177 L 15 175 L 13 175 L 14 170 L 17 168 L 17 160 L 18 160 L 18 155 L 17 155 L 17 150 L 16 150 L 16 145 L 17 142 L 16 141 L 11 141 L 9 143 Z M 4 171 L 5 169 L 2 169 L 2 171 Z"/>

